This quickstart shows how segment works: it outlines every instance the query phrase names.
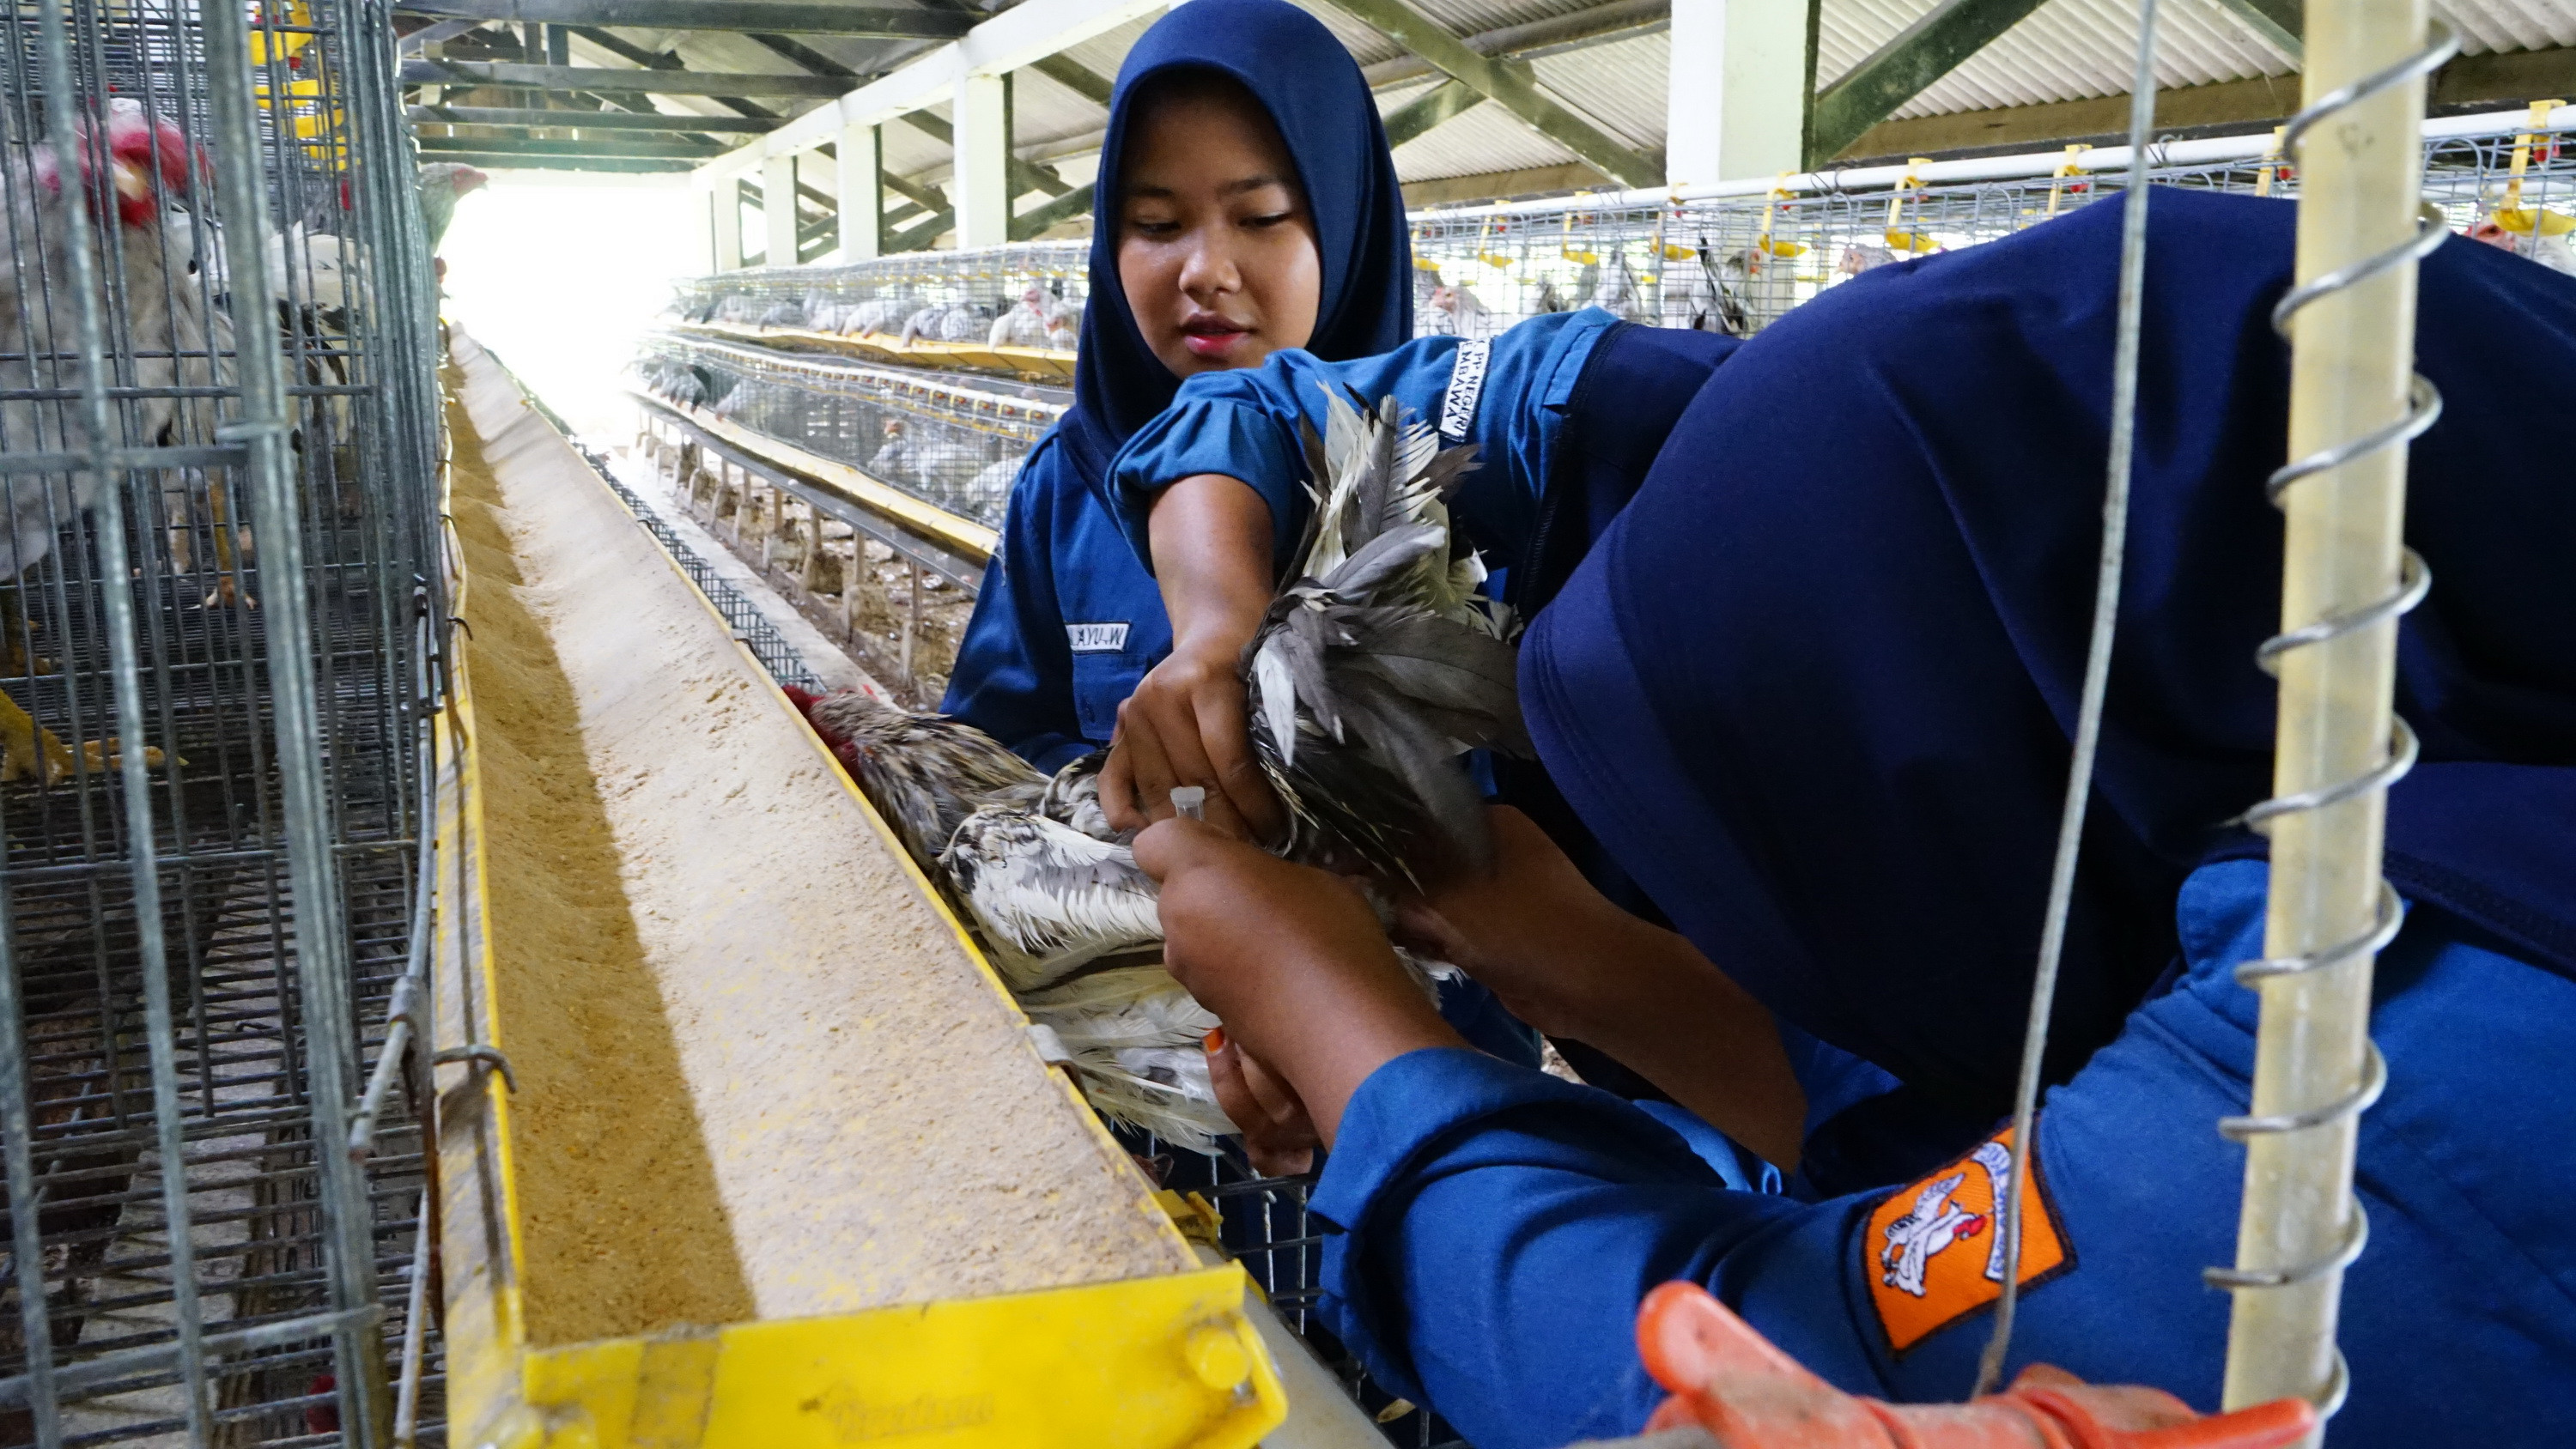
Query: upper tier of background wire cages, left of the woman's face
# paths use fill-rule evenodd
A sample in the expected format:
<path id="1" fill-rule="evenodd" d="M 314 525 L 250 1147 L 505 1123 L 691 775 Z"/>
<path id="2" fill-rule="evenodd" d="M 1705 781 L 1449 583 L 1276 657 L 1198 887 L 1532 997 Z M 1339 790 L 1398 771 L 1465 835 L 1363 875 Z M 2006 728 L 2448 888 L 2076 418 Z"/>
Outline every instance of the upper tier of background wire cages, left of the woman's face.
<path id="1" fill-rule="evenodd" d="M 1090 242 L 1018 242 L 835 268 L 750 268 L 675 283 L 670 317 L 842 337 L 909 329 L 933 342 L 1072 347 L 1090 296 Z"/>

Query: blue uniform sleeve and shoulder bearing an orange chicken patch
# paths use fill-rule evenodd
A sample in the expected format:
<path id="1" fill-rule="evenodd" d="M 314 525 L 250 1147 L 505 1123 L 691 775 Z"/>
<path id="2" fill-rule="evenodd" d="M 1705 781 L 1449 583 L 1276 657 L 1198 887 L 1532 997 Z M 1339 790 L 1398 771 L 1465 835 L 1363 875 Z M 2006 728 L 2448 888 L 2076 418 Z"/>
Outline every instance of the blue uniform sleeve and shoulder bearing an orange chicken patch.
<path id="1" fill-rule="evenodd" d="M 2002 1233 L 2025 1212 L 2032 1361 L 2218 1403 L 2262 947 L 2262 862 L 2184 888 L 2190 973 L 2040 1109 L 2035 1171 L 2007 1135 L 1893 1192 L 1795 1202 L 1726 1192 L 1677 1138 L 1607 1094 L 1461 1050 L 1378 1068 L 1352 1099 L 1314 1212 L 1324 1315 L 1394 1392 L 1479 1449 L 1633 1434 L 1659 1400 L 1633 1318 L 1664 1279 L 1708 1284 L 1850 1392 L 1958 1400 L 1994 1328 Z M 2476 1022 L 2478 1050 L 2458 1050 Z M 2388 1096 L 2362 1117 L 2370 1248 L 2344 1282 L 2347 1449 L 2576 1441 L 2576 981 L 2419 906 L 2380 957 L 2372 1032 Z M 2530 1150 L 2512 1150 L 2532 1143 Z"/>

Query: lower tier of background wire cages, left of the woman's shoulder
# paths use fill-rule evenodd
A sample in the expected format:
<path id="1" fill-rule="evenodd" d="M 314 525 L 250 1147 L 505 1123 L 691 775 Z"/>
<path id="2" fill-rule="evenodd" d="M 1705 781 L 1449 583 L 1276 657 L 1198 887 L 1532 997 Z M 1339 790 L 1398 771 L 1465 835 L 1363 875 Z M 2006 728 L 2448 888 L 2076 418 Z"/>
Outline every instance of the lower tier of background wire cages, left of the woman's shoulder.
<path id="1" fill-rule="evenodd" d="M 1069 407 L 1061 389 L 677 335 L 649 337 L 636 376 L 665 401 L 850 463 L 987 528 L 1002 525 L 1020 461 Z"/>

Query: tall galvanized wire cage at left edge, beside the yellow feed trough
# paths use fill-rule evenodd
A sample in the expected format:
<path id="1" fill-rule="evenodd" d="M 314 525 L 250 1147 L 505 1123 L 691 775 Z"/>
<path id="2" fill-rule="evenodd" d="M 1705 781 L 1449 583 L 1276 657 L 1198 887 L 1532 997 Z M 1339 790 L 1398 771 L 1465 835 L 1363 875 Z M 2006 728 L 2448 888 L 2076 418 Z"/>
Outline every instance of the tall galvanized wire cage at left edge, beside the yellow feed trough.
<path id="1" fill-rule="evenodd" d="M 5 26 L 0 1444 L 386 1444 L 425 1163 L 399 1094 L 348 1135 L 446 618 L 392 23 Z"/>

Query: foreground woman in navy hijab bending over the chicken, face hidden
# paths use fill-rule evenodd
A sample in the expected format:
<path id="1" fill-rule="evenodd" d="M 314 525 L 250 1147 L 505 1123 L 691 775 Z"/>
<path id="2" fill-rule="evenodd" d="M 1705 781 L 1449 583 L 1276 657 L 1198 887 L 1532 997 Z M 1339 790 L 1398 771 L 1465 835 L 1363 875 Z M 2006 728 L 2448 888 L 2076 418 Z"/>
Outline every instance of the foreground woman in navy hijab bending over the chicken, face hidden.
<path id="1" fill-rule="evenodd" d="M 2246 1112 L 2259 999 L 2233 968 L 2262 955 L 2267 888 L 2228 821 L 2269 793 L 2254 646 L 2280 628 L 2293 216 L 2154 198 L 2128 577 L 2022 1181 L 1996 1120 L 2102 538 L 2117 203 L 1883 268 L 1747 342 L 1530 625 L 1540 757 L 1680 934 L 1589 898 L 1510 816 L 1494 878 L 1430 901 L 1450 960 L 1623 1058 L 1705 1014 L 1690 993 L 1723 968 L 1984 1114 L 1950 1161 L 1728 1192 L 1631 1104 L 1453 1050 L 1329 878 L 1198 821 L 1139 839 L 1172 973 L 1332 1148 L 1319 1310 L 1378 1382 L 1479 1449 L 1633 1434 L 1659 1398 L 1636 1305 L 1690 1279 L 1844 1390 L 1950 1400 L 2012 1274 L 2007 1377 L 2045 1361 L 2215 1408 L 2228 1300 L 2200 1269 L 2236 1259 L 2244 1150 L 2215 1125 Z M 2375 970 L 2388 1089 L 2354 1148 L 2334 1441 L 2566 1444 L 2576 492 L 2532 422 L 2576 412 L 2576 283 L 2439 247 L 2416 360 L 2447 399 L 2406 510 L 2434 577 L 2398 631 L 2424 757 L 2388 800 L 2409 914 Z M 1718 1050 L 1682 1066 L 1744 1086 Z"/>

